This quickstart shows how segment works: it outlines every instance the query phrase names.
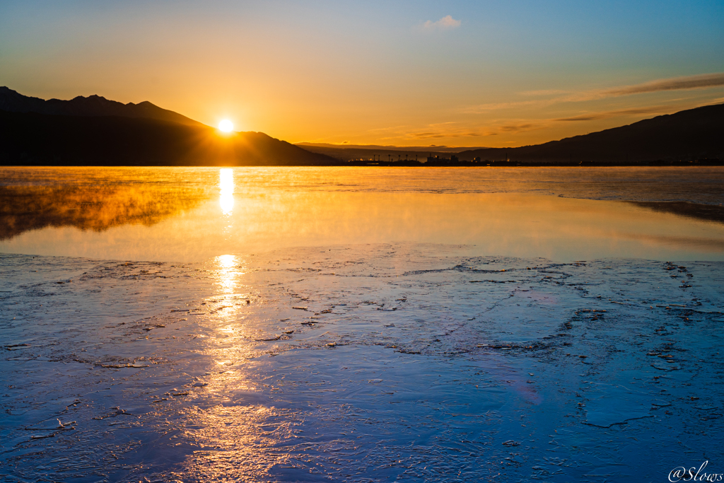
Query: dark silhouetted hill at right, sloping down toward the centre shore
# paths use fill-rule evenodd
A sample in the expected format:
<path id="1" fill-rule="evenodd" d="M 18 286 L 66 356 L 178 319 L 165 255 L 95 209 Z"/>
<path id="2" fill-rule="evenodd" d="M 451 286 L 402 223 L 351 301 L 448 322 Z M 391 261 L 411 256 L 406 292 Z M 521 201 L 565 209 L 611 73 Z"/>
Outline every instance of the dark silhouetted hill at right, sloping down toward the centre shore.
<path id="1" fill-rule="evenodd" d="M 724 160 L 724 104 L 657 116 L 586 135 L 520 148 L 461 151 L 460 160 L 523 163 L 636 164 L 718 158 Z"/>

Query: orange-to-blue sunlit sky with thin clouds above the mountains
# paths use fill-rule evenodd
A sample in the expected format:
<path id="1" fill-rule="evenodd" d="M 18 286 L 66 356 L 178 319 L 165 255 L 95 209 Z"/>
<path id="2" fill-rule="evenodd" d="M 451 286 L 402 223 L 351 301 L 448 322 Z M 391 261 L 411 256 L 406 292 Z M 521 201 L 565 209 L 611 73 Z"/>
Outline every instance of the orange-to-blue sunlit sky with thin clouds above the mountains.
<path id="1" fill-rule="evenodd" d="M 524 146 L 724 103 L 724 1 L 0 2 L 0 85 L 298 142 Z"/>

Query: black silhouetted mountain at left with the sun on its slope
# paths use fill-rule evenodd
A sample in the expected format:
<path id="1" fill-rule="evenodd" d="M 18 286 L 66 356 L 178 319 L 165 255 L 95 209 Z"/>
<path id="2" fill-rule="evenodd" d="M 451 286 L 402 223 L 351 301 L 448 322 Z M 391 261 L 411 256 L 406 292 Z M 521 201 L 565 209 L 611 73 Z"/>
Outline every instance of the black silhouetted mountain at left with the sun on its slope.
<path id="1" fill-rule="evenodd" d="M 221 135 L 213 127 L 151 103 L 121 104 L 99 96 L 43 101 L 4 89 L 0 95 L 0 164 L 5 166 L 338 163 L 264 133 Z"/>

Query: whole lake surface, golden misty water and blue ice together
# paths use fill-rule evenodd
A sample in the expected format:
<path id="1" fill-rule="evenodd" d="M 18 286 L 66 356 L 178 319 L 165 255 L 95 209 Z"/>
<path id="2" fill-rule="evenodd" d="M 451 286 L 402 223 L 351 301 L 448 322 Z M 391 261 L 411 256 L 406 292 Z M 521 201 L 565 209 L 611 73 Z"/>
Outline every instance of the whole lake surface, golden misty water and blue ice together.
<path id="1" fill-rule="evenodd" d="M 608 194 L 579 200 L 576 186 L 456 186 L 466 170 L 449 171 L 345 190 L 264 184 L 263 169 L 235 169 L 231 189 L 218 169 L 122 172 L 115 188 L 118 173 L 14 172 L 3 196 L 55 208 L 41 199 L 3 224 L 2 479 L 667 481 L 704 461 L 724 473 L 721 196 L 701 189 L 722 172 L 586 171 L 578 184 Z M 530 173 L 536 190 L 555 184 Z M 630 186 L 662 177 L 689 188 Z M 395 196 L 408 216 L 384 210 Z"/>

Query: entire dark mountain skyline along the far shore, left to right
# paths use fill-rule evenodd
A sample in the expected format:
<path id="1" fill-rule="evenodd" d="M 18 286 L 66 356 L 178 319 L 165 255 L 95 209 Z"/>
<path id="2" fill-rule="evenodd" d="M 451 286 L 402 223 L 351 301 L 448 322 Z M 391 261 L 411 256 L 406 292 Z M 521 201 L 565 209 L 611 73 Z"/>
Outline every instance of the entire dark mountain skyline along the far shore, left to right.
<path id="1" fill-rule="evenodd" d="M 0 88 L 4 165 L 425 165 L 416 161 L 424 160 L 419 151 L 405 148 L 306 147 L 264 133 L 220 135 L 213 127 L 150 102 L 122 104 L 101 96 L 44 101 Z M 724 104 L 534 146 L 435 154 L 427 165 L 637 165 L 702 159 L 721 163 Z"/>

